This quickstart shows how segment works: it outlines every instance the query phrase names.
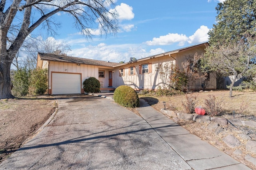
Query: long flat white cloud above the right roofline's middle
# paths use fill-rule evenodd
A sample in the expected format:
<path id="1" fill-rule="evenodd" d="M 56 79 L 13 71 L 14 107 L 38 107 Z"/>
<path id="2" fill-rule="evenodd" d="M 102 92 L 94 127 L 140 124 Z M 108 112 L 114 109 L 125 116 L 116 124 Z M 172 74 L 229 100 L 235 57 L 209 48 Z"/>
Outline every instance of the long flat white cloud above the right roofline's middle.
<path id="1" fill-rule="evenodd" d="M 188 37 L 178 33 L 168 33 L 167 35 L 160 36 L 159 38 L 154 37 L 152 41 L 146 41 L 147 45 L 170 45 L 173 43 L 179 43 L 184 45 L 188 40 Z"/>

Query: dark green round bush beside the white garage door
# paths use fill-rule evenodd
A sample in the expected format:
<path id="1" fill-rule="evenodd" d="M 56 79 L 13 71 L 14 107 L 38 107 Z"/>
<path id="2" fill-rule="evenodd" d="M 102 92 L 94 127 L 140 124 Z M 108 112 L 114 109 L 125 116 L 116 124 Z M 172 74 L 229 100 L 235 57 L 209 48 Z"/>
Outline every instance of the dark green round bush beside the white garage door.
<path id="1" fill-rule="evenodd" d="M 90 77 L 83 82 L 84 92 L 86 93 L 99 93 L 100 81 L 95 77 Z"/>

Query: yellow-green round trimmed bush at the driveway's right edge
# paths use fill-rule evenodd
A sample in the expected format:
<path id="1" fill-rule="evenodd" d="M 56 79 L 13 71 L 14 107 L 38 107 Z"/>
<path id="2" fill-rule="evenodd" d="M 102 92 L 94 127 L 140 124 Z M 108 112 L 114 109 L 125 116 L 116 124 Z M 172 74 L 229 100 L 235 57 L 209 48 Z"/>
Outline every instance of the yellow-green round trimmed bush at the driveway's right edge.
<path id="1" fill-rule="evenodd" d="M 119 86 L 114 92 L 114 101 L 124 107 L 138 107 L 139 97 L 130 86 Z"/>

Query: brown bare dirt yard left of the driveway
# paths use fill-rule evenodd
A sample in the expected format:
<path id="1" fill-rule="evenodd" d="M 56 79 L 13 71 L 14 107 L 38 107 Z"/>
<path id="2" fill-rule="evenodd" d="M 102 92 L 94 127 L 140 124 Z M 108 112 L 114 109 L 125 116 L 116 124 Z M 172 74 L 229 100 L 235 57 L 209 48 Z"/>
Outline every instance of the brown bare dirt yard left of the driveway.
<path id="1" fill-rule="evenodd" d="M 50 96 L 0 100 L 0 163 L 48 120 L 55 107 Z"/>

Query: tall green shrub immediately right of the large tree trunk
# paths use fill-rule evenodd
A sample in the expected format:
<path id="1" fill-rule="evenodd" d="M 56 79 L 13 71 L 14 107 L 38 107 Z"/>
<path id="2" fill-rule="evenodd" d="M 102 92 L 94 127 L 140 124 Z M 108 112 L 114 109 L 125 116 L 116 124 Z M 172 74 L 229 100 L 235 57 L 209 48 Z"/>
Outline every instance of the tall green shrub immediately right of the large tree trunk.
<path id="1" fill-rule="evenodd" d="M 12 81 L 12 94 L 16 97 L 26 96 L 28 94 L 30 72 L 26 68 L 14 71 Z"/>

